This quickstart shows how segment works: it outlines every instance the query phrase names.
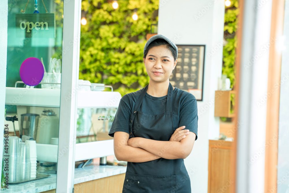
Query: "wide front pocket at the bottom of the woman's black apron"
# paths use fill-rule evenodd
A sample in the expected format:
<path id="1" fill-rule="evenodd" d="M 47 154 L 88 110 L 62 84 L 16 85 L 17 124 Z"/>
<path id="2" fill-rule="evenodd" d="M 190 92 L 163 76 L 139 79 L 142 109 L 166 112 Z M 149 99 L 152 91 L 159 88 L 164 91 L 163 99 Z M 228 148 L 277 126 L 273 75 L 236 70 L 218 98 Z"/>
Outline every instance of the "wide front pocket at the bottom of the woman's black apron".
<path id="1" fill-rule="evenodd" d="M 126 172 L 125 174 L 125 184 L 134 181 L 136 185 L 134 187 L 128 188 L 126 186 L 127 192 L 153 192 L 153 193 L 175 193 L 176 191 L 176 176 L 149 176 L 149 175 L 138 175 Z M 137 187 L 138 189 L 131 189 Z"/>

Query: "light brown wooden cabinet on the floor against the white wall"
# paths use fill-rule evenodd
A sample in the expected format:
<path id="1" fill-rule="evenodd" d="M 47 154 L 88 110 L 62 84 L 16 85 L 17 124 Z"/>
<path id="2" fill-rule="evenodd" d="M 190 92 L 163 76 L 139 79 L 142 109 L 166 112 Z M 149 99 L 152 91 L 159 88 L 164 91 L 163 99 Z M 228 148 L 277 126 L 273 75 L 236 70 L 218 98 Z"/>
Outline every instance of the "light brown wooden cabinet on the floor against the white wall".
<path id="1" fill-rule="evenodd" d="M 208 193 L 233 193 L 232 142 L 209 140 Z"/>

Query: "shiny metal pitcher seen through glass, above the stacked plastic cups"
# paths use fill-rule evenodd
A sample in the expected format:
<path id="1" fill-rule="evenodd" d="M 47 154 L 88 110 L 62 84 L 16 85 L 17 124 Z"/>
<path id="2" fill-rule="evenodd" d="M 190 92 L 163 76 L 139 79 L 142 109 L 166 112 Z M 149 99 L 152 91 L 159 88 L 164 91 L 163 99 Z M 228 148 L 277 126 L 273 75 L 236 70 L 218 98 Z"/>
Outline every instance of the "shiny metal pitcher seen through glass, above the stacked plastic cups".
<path id="1" fill-rule="evenodd" d="M 21 139 L 23 135 L 26 135 L 32 137 L 33 140 L 36 140 L 38 119 L 38 114 L 27 113 L 21 115 L 21 124 L 19 128 Z"/>

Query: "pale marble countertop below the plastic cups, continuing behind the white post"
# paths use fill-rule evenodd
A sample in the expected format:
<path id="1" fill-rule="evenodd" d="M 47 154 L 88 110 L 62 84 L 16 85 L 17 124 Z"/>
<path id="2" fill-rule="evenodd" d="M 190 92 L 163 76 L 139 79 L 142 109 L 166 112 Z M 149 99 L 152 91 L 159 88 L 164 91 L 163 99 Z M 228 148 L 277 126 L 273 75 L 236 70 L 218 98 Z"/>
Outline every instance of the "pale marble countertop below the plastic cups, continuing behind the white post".
<path id="1" fill-rule="evenodd" d="M 38 167 L 38 166 L 37 166 Z M 43 168 L 43 167 L 42 167 Z M 8 189 L 1 190 L 3 193 L 39 193 L 56 188 L 55 168 L 45 168 L 45 174 L 49 177 L 17 184 L 9 184 Z M 37 168 L 37 173 L 42 173 Z M 99 163 L 92 163 L 84 168 L 75 168 L 74 184 L 109 177 L 126 172 L 126 166 L 99 166 Z M 44 172 L 43 172 L 44 173 Z"/>

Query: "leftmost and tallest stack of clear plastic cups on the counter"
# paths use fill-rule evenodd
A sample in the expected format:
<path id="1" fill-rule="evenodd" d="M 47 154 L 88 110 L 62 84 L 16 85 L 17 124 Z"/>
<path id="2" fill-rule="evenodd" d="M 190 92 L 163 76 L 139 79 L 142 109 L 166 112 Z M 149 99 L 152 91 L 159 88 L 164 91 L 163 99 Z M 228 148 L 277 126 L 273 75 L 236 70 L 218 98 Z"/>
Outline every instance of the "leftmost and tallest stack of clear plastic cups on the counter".
<path id="1" fill-rule="evenodd" d="M 20 163 L 21 157 L 19 152 L 19 137 L 9 136 L 8 137 L 9 147 L 8 147 L 8 177 L 9 182 L 16 183 L 20 181 Z M 6 154 L 7 152 L 5 152 Z"/>

